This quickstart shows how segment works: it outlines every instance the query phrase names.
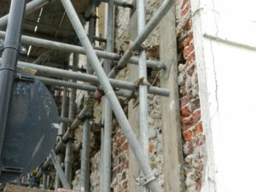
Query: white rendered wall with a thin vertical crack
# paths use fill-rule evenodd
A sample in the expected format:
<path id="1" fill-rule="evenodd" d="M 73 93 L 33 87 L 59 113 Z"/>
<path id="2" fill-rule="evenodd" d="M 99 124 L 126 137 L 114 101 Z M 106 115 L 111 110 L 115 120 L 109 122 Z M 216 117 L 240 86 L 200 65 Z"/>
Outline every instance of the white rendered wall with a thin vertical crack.
<path id="1" fill-rule="evenodd" d="M 202 191 L 256 191 L 256 2 L 191 0 L 191 7 L 207 136 Z"/>

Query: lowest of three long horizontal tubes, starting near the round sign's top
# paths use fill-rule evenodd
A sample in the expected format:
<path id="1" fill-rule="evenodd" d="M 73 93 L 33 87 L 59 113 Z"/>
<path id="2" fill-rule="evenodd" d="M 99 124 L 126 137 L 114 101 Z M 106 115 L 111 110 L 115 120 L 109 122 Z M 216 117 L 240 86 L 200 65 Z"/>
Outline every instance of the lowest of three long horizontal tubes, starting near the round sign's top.
<path id="1" fill-rule="evenodd" d="M 44 84 L 58 85 L 58 86 L 62 86 L 62 87 L 72 88 L 72 89 L 75 89 L 75 90 L 87 90 L 87 91 L 93 92 L 93 91 L 96 91 L 98 89 L 96 86 L 93 86 L 93 85 L 90 85 L 90 84 L 73 83 L 73 82 L 64 81 L 64 80 L 49 79 L 49 78 L 38 77 L 38 76 L 36 76 L 36 78 L 39 79 Z M 115 91 L 115 94 L 117 96 L 123 96 L 123 97 L 130 97 L 131 96 L 130 92 L 122 91 L 122 90 Z M 61 121 L 64 122 L 64 123 L 70 123 L 70 120 L 71 119 L 61 118 Z"/>

